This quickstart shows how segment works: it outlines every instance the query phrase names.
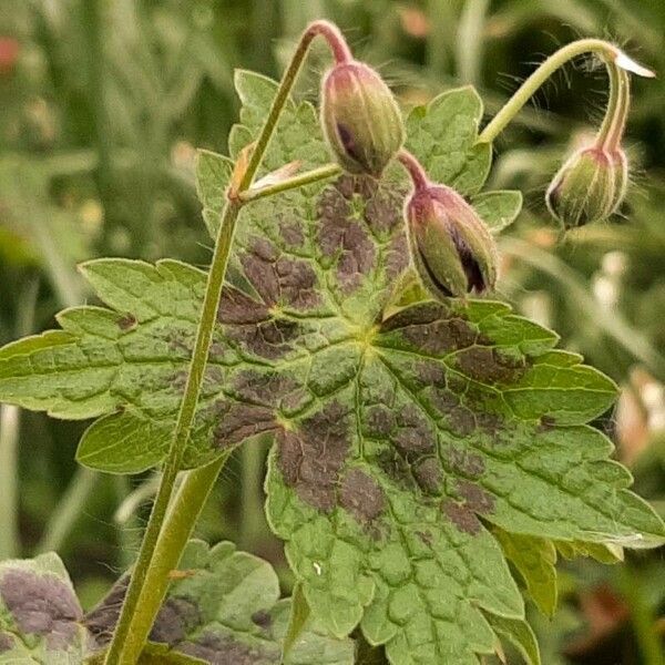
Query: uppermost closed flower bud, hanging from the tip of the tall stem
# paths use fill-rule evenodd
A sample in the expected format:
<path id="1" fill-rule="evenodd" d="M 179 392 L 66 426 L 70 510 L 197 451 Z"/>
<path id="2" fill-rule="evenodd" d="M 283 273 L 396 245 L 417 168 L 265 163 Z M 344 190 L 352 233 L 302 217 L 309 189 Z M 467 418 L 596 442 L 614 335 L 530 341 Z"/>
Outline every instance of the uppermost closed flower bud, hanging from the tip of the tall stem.
<path id="1" fill-rule="evenodd" d="M 379 176 L 405 140 L 390 89 L 371 68 L 339 62 L 321 88 L 321 124 L 337 160 L 350 173 Z"/>

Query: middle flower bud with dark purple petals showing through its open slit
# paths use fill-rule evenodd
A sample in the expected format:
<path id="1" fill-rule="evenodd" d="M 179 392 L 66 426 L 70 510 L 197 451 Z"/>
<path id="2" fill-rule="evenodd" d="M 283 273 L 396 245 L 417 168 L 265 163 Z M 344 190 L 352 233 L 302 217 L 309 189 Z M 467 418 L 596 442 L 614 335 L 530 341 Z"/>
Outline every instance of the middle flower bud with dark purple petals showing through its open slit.
<path id="1" fill-rule="evenodd" d="M 417 187 L 406 214 L 415 264 L 432 295 L 464 297 L 494 288 L 494 239 L 454 190 L 433 184 Z"/>

